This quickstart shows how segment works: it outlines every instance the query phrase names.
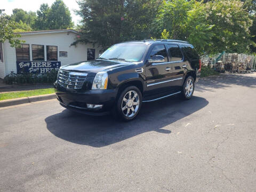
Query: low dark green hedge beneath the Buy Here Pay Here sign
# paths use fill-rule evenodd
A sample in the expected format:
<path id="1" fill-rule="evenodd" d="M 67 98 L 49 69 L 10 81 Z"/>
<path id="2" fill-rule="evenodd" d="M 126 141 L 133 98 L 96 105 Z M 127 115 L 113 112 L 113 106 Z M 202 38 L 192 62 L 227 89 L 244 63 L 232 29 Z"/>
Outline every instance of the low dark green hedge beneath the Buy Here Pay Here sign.
<path id="1" fill-rule="evenodd" d="M 21 73 L 11 74 L 4 77 L 5 84 L 35 84 L 35 83 L 53 83 L 57 80 L 58 71 L 52 70 L 49 73 L 45 74 L 30 74 L 30 73 Z"/>

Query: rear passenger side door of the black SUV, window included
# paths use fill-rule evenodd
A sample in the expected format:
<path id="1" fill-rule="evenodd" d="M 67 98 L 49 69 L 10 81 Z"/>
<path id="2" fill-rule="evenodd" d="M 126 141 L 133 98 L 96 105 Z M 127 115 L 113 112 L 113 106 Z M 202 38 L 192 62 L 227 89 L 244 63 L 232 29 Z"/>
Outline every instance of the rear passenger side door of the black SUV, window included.
<path id="1" fill-rule="evenodd" d="M 184 56 L 177 44 L 167 44 L 166 48 L 170 57 L 169 66 L 172 69 L 171 87 L 172 90 L 180 90 L 183 83 L 185 70 L 187 68 L 186 62 L 184 61 Z"/>

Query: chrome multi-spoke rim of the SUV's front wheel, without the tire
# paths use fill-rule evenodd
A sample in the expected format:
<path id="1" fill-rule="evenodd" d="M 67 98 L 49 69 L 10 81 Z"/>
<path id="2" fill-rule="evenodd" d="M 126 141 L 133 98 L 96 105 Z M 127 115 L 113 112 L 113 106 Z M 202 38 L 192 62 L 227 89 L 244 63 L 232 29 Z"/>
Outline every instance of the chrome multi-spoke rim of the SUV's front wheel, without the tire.
<path id="1" fill-rule="evenodd" d="M 140 98 L 136 91 L 128 91 L 122 101 L 122 112 L 126 117 L 133 117 L 140 106 Z"/>

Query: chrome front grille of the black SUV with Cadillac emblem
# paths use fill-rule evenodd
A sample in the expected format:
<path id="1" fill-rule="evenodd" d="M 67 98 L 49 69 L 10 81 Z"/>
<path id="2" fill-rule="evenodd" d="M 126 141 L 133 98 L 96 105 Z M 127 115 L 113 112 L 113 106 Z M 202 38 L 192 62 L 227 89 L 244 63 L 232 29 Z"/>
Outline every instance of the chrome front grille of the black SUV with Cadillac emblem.
<path id="1" fill-rule="evenodd" d="M 82 89 L 87 74 L 60 70 L 58 83 L 66 89 Z"/>

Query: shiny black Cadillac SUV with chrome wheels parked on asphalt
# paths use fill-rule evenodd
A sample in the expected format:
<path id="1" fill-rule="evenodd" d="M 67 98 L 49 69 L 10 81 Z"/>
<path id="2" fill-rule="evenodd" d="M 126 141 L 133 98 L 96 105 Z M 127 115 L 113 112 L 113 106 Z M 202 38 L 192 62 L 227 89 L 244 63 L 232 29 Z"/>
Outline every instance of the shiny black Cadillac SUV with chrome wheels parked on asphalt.
<path id="1" fill-rule="evenodd" d="M 54 83 L 60 105 L 88 115 L 134 119 L 142 102 L 190 99 L 201 72 L 193 45 L 177 40 L 115 44 L 99 58 L 63 66 Z"/>

